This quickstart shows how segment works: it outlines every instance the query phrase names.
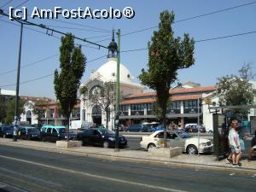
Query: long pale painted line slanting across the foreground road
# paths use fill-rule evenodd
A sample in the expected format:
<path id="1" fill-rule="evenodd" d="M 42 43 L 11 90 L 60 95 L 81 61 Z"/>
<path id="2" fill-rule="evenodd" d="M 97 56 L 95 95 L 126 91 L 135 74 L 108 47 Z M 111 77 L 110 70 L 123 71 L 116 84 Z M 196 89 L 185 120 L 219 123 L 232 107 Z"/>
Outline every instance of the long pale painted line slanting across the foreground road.
<path id="1" fill-rule="evenodd" d="M 154 186 L 154 185 L 145 184 L 145 183 L 137 183 L 137 182 L 127 181 L 127 180 L 122 180 L 122 179 L 119 179 L 119 178 L 105 177 L 105 176 L 101 176 L 101 175 L 91 174 L 91 173 L 88 173 L 88 172 L 73 171 L 73 170 L 69 170 L 69 169 L 65 169 L 65 168 L 60 168 L 60 167 L 49 166 L 49 165 L 45 165 L 45 164 L 41 164 L 41 163 L 37 163 L 37 162 L 32 162 L 30 160 L 20 160 L 20 159 L 16 159 L 16 158 L 13 158 L 13 157 L 7 157 L 7 156 L 3 156 L 3 155 L 0 155 L 0 157 L 2 157 L 3 159 L 20 161 L 20 162 L 27 163 L 27 164 L 32 164 L 32 165 L 35 165 L 35 166 L 43 166 L 43 167 L 47 167 L 47 168 L 50 168 L 50 169 L 55 169 L 55 170 L 58 170 L 58 171 L 61 171 L 61 172 L 71 172 L 71 173 L 80 174 L 80 175 L 83 175 L 83 176 L 86 176 L 86 177 L 95 177 L 95 178 L 99 178 L 99 179 L 103 179 L 103 180 L 108 180 L 108 181 L 118 182 L 118 183 L 126 183 L 126 184 L 136 185 L 136 186 L 145 187 L 145 188 L 149 188 L 149 189 L 160 189 L 160 190 L 171 191 L 171 192 L 186 192 L 184 190 L 170 189 L 170 188 Z"/>

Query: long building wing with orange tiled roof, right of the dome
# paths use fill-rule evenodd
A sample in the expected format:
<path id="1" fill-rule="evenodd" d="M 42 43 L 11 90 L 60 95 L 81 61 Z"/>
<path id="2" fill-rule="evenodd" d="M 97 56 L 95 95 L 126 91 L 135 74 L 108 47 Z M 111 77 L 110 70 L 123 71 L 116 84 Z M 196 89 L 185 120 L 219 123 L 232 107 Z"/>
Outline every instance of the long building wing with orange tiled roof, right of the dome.
<path id="1" fill-rule="evenodd" d="M 174 122 L 176 125 L 183 126 L 199 121 L 200 124 L 208 125 L 208 122 L 204 119 L 209 114 L 204 98 L 216 91 L 216 87 L 201 87 L 199 85 L 190 84 L 189 82 L 170 90 L 171 97 L 170 102 L 167 104 L 166 113 L 168 123 Z M 132 125 L 157 121 L 158 119 L 154 115 L 154 102 L 155 93 L 153 91 L 125 96 L 124 101 L 120 103 L 122 124 Z"/>

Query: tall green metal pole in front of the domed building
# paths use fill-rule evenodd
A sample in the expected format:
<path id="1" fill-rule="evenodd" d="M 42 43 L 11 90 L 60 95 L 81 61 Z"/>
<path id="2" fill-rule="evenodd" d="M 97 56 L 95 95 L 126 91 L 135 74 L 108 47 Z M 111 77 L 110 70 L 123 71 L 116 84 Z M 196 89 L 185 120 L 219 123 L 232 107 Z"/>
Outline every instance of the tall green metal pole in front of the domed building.
<path id="1" fill-rule="evenodd" d="M 120 29 L 118 30 L 118 49 L 116 67 L 116 92 L 115 92 L 115 151 L 119 151 L 119 67 L 120 67 Z"/>

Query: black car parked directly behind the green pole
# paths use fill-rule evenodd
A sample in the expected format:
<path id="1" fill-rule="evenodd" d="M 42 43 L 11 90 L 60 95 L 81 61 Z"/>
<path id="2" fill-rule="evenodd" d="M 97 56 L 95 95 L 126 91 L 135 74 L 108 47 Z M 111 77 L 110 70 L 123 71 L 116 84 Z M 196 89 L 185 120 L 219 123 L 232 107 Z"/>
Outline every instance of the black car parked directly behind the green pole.
<path id="1" fill-rule="evenodd" d="M 103 148 L 114 147 L 115 132 L 108 129 L 87 129 L 84 130 L 80 138 L 83 145 L 96 145 Z M 119 136 L 119 147 L 124 148 L 127 140 L 124 136 Z"/>

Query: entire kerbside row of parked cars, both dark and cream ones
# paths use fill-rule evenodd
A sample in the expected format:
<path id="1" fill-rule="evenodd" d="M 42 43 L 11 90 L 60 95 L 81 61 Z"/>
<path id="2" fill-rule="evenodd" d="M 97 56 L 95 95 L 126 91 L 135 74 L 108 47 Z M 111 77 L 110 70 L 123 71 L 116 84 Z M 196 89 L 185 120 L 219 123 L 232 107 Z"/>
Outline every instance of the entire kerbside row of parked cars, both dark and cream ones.
<path id="1" fill-rule="evenodd" d="M 43 142 L 55 142 L 57 140 L 67 139 L 67 128 L 63 125 L 44 125 L 41 129 L 32 126 L 19 126 L 18 138 L 27 140 L 42 140 Z M 0 126 L 0 137 L 13 137 L 13 125 Z M 104 127 L 84 129 L 80 131 L 70 131 L 69 139 L 80 140 L 83 145 L 101 146 L 103 148 L 114 147 L 115 132 Z M 212 152 L 213 144 L 208 139 L 198 139 L 191 137 L 182 130 L 167 131 L 167 146 L 182 147 L 184 153 L 197 154 Z M 141 137 L 142 148 L 161 148 L 164 142 L 164 131 L 154 131 L 149 136 Z M 127 139 L 119 135 L 119 147 L 125 148 Z"/>

